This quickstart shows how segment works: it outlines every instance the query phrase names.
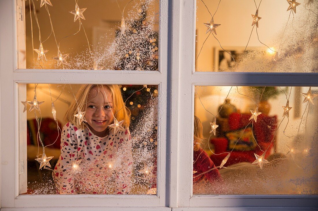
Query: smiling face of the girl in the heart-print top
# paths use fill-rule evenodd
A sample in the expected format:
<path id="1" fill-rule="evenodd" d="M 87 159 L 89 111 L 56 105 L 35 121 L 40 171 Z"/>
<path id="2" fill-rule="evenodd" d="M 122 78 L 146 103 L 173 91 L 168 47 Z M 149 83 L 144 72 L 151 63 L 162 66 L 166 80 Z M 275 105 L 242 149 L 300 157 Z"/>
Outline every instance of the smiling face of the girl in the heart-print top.
<path id="1" fill-rule="evenodd" d="M 113 97 L 106 86 L 91 88 L 87 97 L 85 118 L 89 128 L 96 136 L 107 135 L 108 125 L 114 122 L 113 106 Z"/>

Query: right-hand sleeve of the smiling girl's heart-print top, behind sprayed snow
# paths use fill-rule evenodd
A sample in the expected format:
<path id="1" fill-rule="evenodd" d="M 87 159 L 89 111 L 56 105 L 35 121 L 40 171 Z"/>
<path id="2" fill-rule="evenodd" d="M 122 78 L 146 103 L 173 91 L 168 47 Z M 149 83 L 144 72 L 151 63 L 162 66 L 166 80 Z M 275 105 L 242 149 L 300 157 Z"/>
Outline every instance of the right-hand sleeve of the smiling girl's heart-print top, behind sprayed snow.
<path id="1" fill-rule="evenodd" d="M 118 164 L 116 168 L 114 194 L 129 194 L 133 169 L 132 141 L 129 129 L 121 132 L 118 143 Z"/>

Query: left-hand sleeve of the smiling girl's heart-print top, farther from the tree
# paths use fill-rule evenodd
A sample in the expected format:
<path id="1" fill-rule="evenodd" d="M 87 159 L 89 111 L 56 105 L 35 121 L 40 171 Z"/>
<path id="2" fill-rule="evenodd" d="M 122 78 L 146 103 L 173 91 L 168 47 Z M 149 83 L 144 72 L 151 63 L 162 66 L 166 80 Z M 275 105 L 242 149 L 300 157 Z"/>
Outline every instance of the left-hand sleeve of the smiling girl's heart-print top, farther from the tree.
<path id="1" fill-rule="evenodd" d="M 73 184 L 74 172 L 68 167 L 72 159 L 74 161 L 77 159 L 77 139 L 74 127 L 71 123 L 67 123 L 62 129 L 61 155 L 53 171 L 53 179 L 59 194 L 76 193 Z"/>

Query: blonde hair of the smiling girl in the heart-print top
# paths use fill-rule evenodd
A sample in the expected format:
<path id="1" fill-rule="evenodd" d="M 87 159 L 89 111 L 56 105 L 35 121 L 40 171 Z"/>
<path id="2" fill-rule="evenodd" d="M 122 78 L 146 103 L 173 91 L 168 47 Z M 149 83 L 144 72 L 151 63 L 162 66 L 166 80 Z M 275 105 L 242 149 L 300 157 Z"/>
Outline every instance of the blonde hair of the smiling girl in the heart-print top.
<path id="1" fill-rule="evenodd" d="M 64 116 L 64 120 L 66 122 L 70 122 L 76 127 L 84 129 L 85 125 L 79 125 L 79 118 L 74 115 L 77 114 L 77 108 L 79 108 L 82 112 L 86 111 L 86 104 L 88 93 L 93 87 L 98 87 L 99 89 L 102 87 L 107 87 L 113 97 L 113 108 L 114 108 L 114 116 L 118 121 L 125 120 L 123 126 L 129 127 L 130 125 L 130 110 L 126 107 L 124 100 L 121 96 L 121 91 L 118 85 L 115 84 L 83 84 L 79 91 L 76 93 L 75 99 L 73 99 L 70 107 L 67 109 L 66 114 Z"/>

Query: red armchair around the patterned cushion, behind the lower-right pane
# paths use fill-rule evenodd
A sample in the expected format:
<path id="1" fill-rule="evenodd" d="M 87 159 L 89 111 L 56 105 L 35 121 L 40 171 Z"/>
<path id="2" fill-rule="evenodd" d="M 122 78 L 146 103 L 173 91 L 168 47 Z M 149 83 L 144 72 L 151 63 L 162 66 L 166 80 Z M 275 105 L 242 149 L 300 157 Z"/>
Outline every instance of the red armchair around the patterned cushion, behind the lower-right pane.
<path id="1" fill-rule="evenodd" d="M 227 121 L 228 125 L 226 125 L 226 127 L 221 128 L 227 128 L 230 131 L 244 129 L 246 125 L 250 123 L 250 117 L 251 114 L 247 113 L 232 113 L 229 115 Z M 252 123 L 250 125 L 252 125 Z M 240 162 L 254 162 L 256 159 L 254 153 L 258 155 L 263 154 L 263 152 L 259 148 L 261 148 L 264 151 L 268 148 L 265 154 L 265 158 L 268 157 L 275 144 L 274 135 L 276 127 L 277 116 L 267 116 L 264 114 L 260 114 L 257 117 L 257 122 L 253 122 L 253 134 L 259 146 L 256 146 L 253 150 L 233 150 L 231 156 L 229 157 L 227 163 L 225 163 L 224 166 L 226 167 Z M 226 137 L 215 137 L 212 138 L 210 142 L 214 145 L 215 154 L 231 151 L 228 148 L 229 141 Z M 228 155 L 227 153 L 221 155 L 215 154 L 212 154 L 210 158 L 216 166 L 219 166 L 222 160 Z"/>

